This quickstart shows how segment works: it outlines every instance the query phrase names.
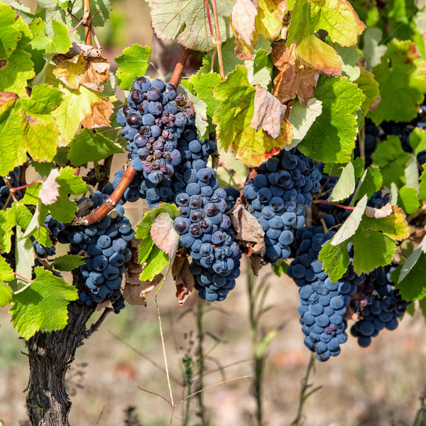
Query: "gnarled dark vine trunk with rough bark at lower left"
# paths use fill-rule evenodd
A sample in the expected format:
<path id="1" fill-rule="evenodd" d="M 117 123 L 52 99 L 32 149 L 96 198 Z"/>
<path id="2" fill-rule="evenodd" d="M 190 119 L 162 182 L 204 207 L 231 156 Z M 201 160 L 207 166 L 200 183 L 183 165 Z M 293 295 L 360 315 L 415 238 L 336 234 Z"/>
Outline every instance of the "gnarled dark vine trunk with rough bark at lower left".
<path id="1" fill-rule="evenodd" d="M 74 274 L 77 288 L 81 275 Z M 79 285 L 80 284 L 80 285 Z M 37 332 L 26 342 L 30 364 L 28 416 L 33 426 L 69 426 L 71 401 L 65 390 L 65 374 L 77 347 L 86 337 L 86 323 L 94 307 L 70 302 L 68 324 L 58 332 Z"/>

